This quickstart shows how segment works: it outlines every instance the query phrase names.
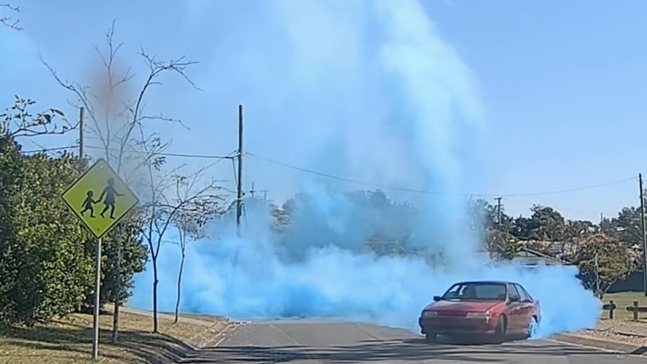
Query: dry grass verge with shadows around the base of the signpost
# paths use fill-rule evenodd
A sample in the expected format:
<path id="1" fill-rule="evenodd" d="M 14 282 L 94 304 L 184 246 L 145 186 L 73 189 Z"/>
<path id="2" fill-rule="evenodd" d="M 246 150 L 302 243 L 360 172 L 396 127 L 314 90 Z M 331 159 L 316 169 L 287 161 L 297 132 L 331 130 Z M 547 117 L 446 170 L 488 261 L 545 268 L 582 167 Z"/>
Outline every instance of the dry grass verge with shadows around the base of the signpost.
<path id="1" fill-rule="evenodd" d="M 100 362 L 102 363 L 169 363 L 190 350 L 185 343 L 204 331 L 204 326 L 177 323 L 160 317 L 160 332 L 152 334 L 152 319 L 133 313 L 122 313 L 119 343 L 111 344 L 113 317 L 100 317 Z M 213 321 L 212 317 L 212 321 Z M 34 328 L 11 327 L 0 330 L 0 363 L 63 364 L 93 363 L 93 317 L 73 313 L 50 324 Z"/>

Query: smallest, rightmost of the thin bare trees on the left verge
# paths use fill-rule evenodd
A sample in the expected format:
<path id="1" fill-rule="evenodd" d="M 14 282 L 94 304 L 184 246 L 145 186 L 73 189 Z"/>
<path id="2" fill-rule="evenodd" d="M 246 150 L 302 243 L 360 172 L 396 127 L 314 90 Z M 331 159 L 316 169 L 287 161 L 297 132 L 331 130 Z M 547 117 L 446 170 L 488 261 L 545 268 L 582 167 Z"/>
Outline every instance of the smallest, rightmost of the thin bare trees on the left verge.
<path id="1" fill-rule="evenodd" d="M 191 176 L 175 175 L 175 196 L 173 203 L 179 204 L 187 201 L 199 192 L 197 190 L 202 180 L 203 170 L 192 174 Z M 216 187 L 214 181 L 207 186 L 208 190 L 215 192 L 222 188 Z M 206 192 L 206 191 L 205 191 Z M 223 196 L 218 194 L 201 194 L 192 203 L 192 209 L 182 209 L 177 212 L 173 224 L 177 227 L 178 245 L 180 247 L 181 260 L 180 269 L 177 273 L 177 299 L 175 301 L 175 323 L 179 321 L 180 301 L 182 293 L 182 272 L 184 271 L 184 261 L 186 260 L 186 245 L 192 240 L 197 240 L 204 236 L 204 225 L 216 214 L 223 212 L 220 202 Z"/>

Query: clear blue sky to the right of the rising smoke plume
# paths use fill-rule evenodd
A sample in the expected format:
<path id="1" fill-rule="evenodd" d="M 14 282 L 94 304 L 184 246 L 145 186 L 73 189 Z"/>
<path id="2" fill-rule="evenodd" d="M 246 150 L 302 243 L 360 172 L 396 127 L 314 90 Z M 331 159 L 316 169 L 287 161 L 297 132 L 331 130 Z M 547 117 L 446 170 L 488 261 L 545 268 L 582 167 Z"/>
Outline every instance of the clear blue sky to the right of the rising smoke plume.
<path id="1" fill-rule="evenodd" d="M 505 193 L 596 185 L 646 172 L 647 3 L 428 3 L 483 87 Z M 492 187 L 492 190 L 499 188 Z M 638 203 L 637 183 L 519 197 L 597 220 Z M 509 201 L 509 211 L 523 204 Z"/>

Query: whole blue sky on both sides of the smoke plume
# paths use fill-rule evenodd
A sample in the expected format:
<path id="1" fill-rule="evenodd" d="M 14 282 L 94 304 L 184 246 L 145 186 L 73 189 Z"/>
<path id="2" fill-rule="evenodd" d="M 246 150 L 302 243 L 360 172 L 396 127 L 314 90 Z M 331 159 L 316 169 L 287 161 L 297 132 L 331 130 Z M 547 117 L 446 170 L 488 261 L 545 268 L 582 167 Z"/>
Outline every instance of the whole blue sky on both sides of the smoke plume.
<path id="1" fill-rule="evenodd" d="M 353 148 L 369 150 L 371 156 L 389 159 L 392 155 L 381 153 L 397 148 L 397 140 L 375 136 L 389 142 L 389 148 L 375 147 L 369 138 L 349 142 L 356 133 L 380 133 L 371 124 L 349 124 L 348 120 L 362 118 L 360 111 L 395 112 L 382 109 L 380 100 L 385 95 L 397 95 L 375 91 L 388 89 L 389 81 L 377 85 L 371 58 L 366 56 L 376 44 L 373 38 L 379 40 L 384 32 L 379 27 L 373 30 L 373 18 L 379 19 L 379 14 L 366 15 L 357 3 L 346 11 L 344 1 L 329 6 L 275 3 L 281 5 L 267 1 L 166 1 L 154 6 L 131 1 L 16 0 L 25 30 L 0 28 L 0 102 L 9 106 L 17 93 L 34 98 L 40 106 L 73 113 L 66 104 L 71 95 L 52 81 L 38 56 L 52 63 L 64 78 L 84 82 L 97 64 L 91 46 L 102 44 L 103 32 L 115 19 L 116 38 L 126 43 L 124 63 L 139 64 L 133 55 L 139 45 L 165 58 L 186 54 L 201 61 L 190 74 L 203 92 L 170 78 L 165 81 L 167 88 L 149 99 L 151 107 L 171 116 L 180 114 L 191 128 L 159 127 L 172 136 L 172 151 L 224 154 L 236 148 L 236 106 L 242 102 L 248 109 L 250 151 L 322 172 L 370 180 L 379 174 L 384 181 L 420 187 L 424 177 L 403 176 L 399 169 L 408 163 L 408 152 L 397 161 L 375 166 L 366 166 L 362 152 L 353 153 Z M 434 36 L 453 47 L 460 60 L 451 62 L 462 62 L 471 70 L 468 77 L 458 67 L 459 76 L 448 76 L 443 82 L 454 82 L 461 89 L 466 79 L 473 81 L 487 130 L 470 150 L 471 154 L 476 150 L 476 157 L 463 163 L 457 188 L 523 194 L 586 187 L 647 172 L 643 142 L 647 128 L 646 2 L 421 3 L 424 16 L 434 24 Z M 446 69 L 455 71 L 456 67 Z M 135 71 L 142 76 L 143 70 Z M 318 94 L 317 89 L 325 93 Z M 470 104 L 470 92 L 457 93 L 457 98 Z M 358 95 L 371 96 L 360 99 Z M 326 103 L 329 106 L 317 109 Z M 349 115 L 353 110 L 360 111 Z M 339 121 L 331 126 L 329 120 Z M 463 127 L 454 131 L 464 131 Z M 340 128 L 350 131 L 322 137 Z M 58 146 L 73 139 L 39 142 Z M 25 148 L 33 146 L 25 142 Z M 337 158 L 346 159 L 345 168 L 336 167 L 341 164 L 334 163 Z M 269 188 L 272 198 L 283 199 L 302 186 L 295 182 L 302 179 L 301 172 L 251 157 L 248 161 L 247 182 L 255 180 L 256 187 Z M 231 166 L 225 164 L 214 173 L 231 179 Z M 393 168 L 380 170 L 385 165 Z M 273 178 L 277 174 L 283 178 Z M 597 221 L 600 212 L 615 215 L 622 206 L 635 204 L 637 194 L 637 183 L 628 181 L 580 192 L 510 197 L 504 203 L 511 214 L 527 214 L 532 203 L 541 203 L 556 207 L 567 218 Z"/>

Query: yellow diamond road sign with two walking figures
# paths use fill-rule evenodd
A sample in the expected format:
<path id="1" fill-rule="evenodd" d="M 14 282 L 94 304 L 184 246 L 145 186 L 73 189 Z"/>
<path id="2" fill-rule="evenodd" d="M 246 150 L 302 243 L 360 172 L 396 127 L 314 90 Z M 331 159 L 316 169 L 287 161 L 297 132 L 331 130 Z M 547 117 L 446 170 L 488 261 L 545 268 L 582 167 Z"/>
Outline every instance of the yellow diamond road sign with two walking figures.
<path id="1" fill-rule="evenodd" d="M 63 192 L 63 200 L 97 238 L 101 238 L 138 203 L 137 196 L 99 159 Z"/>

